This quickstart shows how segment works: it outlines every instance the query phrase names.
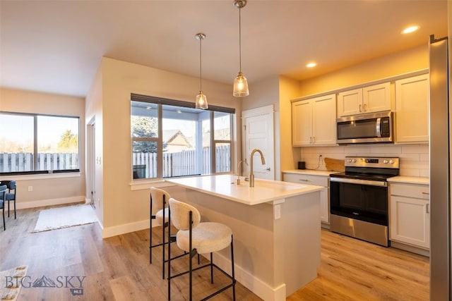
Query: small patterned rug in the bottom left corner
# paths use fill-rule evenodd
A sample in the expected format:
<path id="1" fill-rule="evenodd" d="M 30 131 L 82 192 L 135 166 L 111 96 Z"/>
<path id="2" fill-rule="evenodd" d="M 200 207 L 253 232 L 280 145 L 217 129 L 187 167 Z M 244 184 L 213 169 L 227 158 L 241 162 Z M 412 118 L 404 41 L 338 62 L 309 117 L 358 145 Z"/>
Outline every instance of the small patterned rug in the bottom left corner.
<path id="1" fill-rule="evenodd" d="M 22 288 L 22 278 L 27 275 L 28 266 L 0 271 L 0 300 L 16 300 Z"/>

